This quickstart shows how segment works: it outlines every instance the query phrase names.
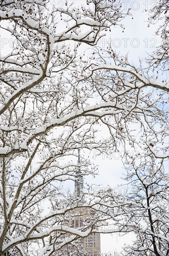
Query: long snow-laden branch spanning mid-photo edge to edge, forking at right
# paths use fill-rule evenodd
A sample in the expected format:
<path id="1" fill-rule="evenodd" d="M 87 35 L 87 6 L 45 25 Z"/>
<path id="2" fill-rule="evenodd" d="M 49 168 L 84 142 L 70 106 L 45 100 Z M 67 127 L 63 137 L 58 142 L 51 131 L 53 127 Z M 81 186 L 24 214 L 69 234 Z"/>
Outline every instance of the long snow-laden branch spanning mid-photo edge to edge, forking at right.
<path id="1" fill-rule="evenodd" d="M 97 65 L 97 64 L 96 64 Z M 145 121 L 147 121 L 147 117 L 150 115 L 156 115 L 156 111 L 154 110 L 155 108 L 155 103 L 159 104 L 158 100 L 159 99 L 154 99 L 154 101 L 149 101 L 150 98 L 150 93 L 147 95 L 145 95 L 145 99 L 140 99 L 140 95 L 141 92 L 143 92 L 143 89 L 146 88 L 158 88 L 161 89 L 161 91 L 165 92 L 165 91 L 169 91 L 168 85 L 163 82 L 158 82 L 158 81 L 154 81 L 152 79 L 146 79 L 143 77 L 143 75 L 140 75 L 138 72 L 136 72 L 133 68 L 126 68 L 126 67 L 119 67 L 119 66 L 113 66 L 113 65 L 102 65 L 99 66 L 97 68 L 92 68 L 92 71 L 90 72 L 90 69 L 92 66 L 95 66 L 94 64 L 91 64 L 88 68 L 89 68 L 89 74 L 88 77 L 85 77 L 83 79 L 80 79 L 79 81 L 77 81 L 76 83 L 81 83 L 84 81 L 90 81 L 90 83 L 94 84 L 94 86 L 98 86 L 98 80 L 93 81 L 94 77 L 98 77 L 98 75 L 103 75 L 101 72 L 103 70 L 104 75 L 108 74 L 107 71 L 116 71 L 116 72 L 120 72 L 122 73 L 122 79 L 124 81 L 125 75 L 126 74 L 130 74 L 132 76 L 132 79 L 134 80 L 134 83 L 132 82 L 122 82 L 121 83 L 121 90 L 116 89 L 116 91 L 114 90 L 114 88 L 110 88 L 109 85 L 104 84 L 104 86 L 106 87 L 106 89 L 109 90 L 109 92 L 106 92 L 106 95 L 109 94 L 109 97 L 105 96 L 105 95 L 101 95 L 103 92 L 103 87 L 101 88 L 97 88 L 99 95 L 101 96 L 101 100 L 103 101 L 102 103 L 96 103 L 95 105 L 90 105 L 88 107 L 85 107 L 84 104 L 81 104 L 81 108 L 73 111 L 72 113 L 63 116 L 64 111 L 62 110 L 62 116 L 61 118 L 52 118 L 52 121 L 50 122 L 45 122 L 44 124 L 42 124 L 42 126 L 40 128 L 25 128 L 23 129 L 22 126 L 1 126 L 2 132 L 4 133 L 4 135 L 9 133 L 23 133 L 23 136 L 25 136 L 25 139 L 22 140 L 22 143 L 19 144 L 15 142 L 14 144 L 14 148 L 11 148 L 10 146 L 5 146 L 3 148 L 1 148 L 1 152 L 0 152 L 0 156 L 1 157 L 7 157 L 8 155 L 12 155 L 14 153 L 21 153 L 21 152 L 25 152 L 27 150 L 27 147 L 30 145 L 30 143 L 32 143 L 33 140 L 35 140 L 36 138 L 38 138 L 41 135 L 45 135 L 48 131 L 50 131 L 52 128 L 56 128 L 56 127 L 62 127 L 64 125 L 67 125 L 70 121 L 75 121 L 78 118 L 81 117 L 86 117 L 86 116 L 93 116 L 95 118 L 99 118 L 102 122 L 103 122 L 103 117 L 105 116 L 116 116 L 119 115 L 120 113 L 123 113 L 123 115 L 125 115 L 126 117 L 131 116 L 131 115 L 142 115 L 145 119 Z M 97 65 L 98 66 L 98 65 Z M 85 72 L 87 71 L 87 68 L 85 68 Z M 99 71 L 99 74 L 95 72 Z M 26 71 L 25 71 L 26 72 Z M 6 72 L 7 73 L 7 72 Z M 109 73 L 111 74 L 111 73 Z M 119 74 L 119 79 L 120 78 Z M 113 74 L 111 74 L 111 79 L 113 80 Z M 42 78 L 41 78 L 42 79 Z M 110 78 L 109 78 L 110 79 Z M 100 81 L 103 80 L 100 77 Z M 104 78 L 105 80 L 105 78 Z M 38 82 L 37 82 L 38 83 Z M 111 81 L 112 83 L 112 81 Z M 33 85 L 31 85 L 33 86 Z M 99 86 L 100 87 L 100 86 Z M 26 89 L 27 90 L 27 89 Z M 23 89 L 20 89 L 20 92 L 22 92 Z M 30 92 L 30 90 L 28 91 L 28 93 Z M 52 91 L 52 94 L 55 92 L 55 90 Z M 45 93 L 45 91 L 44 91 Z M 50 93 L 50 90 L 47 92 Z M 15 93 L 14 93 L 15 94 Z M 23 92 L 24 94 L 24 92 Z M 38 89 L 33 91 L 33 94 L 41 94 L 41 92 L 38 93 Z M 104 92 L 105 94 L 105 92 Z M 134 95 L 134 100 L 130 99 L 130 97 L 128 95 L 133 94 Z M 161 95 L 161 94 L 160 94 Z M 15 95 L 15 97 L 17 97 Z M 123 101 L 121 101 L 121 103 L 119 102 L 119 99 L 123 97 Z M 124 101 L 124 98 L 126 98 L 126 101 Z M 10 99 L 11 100 L 11 99 Z M 10 101 L 9 100 L 9 101 Z M 126 103 L 127 100 L 129 100 L 129 103 Z M 10 104 L 8 101 L 7 105 Z M 134 103 L 134 104 L 133 104 Z M 142 103 L 146 103 L 145 105 L 141 104 Z M 167 102 L 166 102 L 167 103 Z M 127 106 L 128 105 L 128 106 Z M 69 106 L 69 108 L 72 108 L 72 106 Z M 128 108 L 127 108 L 128 107 Z M 150 110 L 153 107 L 153 111 Z M 68 110 L 68 107 L 65 108 L 66 110 Z M 98 112 L 99 110 L 99 112 Z M 101 110 L 101 112 L 100 112 Z M 157 108 L 157 111 L 159 111 L 159 108 Z M 149 112 L 150 114 L 147 114 L 147 112 Z M 60 114 L 59 114 L 60 115 Z M 58 116 L 58 114 L 57 114 Z M 110 128 L 114 128 L 116 130 L 116 127 L 113 127 L 110 123 L 105 122 Z M 117 124 L 119 126 L 119 124 Z M 37 126 L 36 126 L 37 127 Z M 150 124 L 149 124 L 150 127 Z M 153 133 L 155 133 L 154 129 L 152 129 Z M 24 137 L 23 137 L 24 138 Z M 151 152 L 155 152 L 152 151 Z M 155 153 L 153 153 L 155 154 Z M 161 157 L 161 156 L 157 156 L 156 157 Z M 168 157 L 168 155 L 163 155 L 164 158 Z"/>

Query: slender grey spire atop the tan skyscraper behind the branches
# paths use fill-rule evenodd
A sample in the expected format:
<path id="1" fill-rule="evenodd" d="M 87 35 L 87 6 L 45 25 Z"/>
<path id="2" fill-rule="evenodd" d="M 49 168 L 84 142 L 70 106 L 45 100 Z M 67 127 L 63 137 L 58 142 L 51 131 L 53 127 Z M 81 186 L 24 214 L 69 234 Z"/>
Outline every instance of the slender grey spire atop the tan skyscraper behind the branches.
<path id="1" fill-rule="evenodd" d="M 78 149 L 78 170 L 76 172 L 75 178 L 75 198 L 80 198 L 83 190 L 83 177 L 81 175 L 81 168 L 80 168 L 80 149 Z"/>

